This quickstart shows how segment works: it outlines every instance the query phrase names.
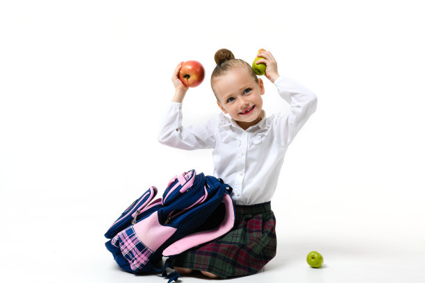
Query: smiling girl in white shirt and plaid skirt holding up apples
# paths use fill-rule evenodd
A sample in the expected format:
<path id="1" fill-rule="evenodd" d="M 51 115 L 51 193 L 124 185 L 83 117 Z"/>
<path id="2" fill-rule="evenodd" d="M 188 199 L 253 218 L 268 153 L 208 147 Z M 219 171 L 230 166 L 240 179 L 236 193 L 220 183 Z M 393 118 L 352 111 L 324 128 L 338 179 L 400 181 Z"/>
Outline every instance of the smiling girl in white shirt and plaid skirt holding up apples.
<path id="1" fill-rule="evenodd" d="M 272 53 L 262 51 L 258 57 L 264 58 L 258 63 L 265 63 L 265 76 L 290 103 L 289 113 L 266 117 L 263 80 L 247 62 L 220 49 L 215 53 L 211 87 L 223 113 L 206 124 L 182 126 L 182 102 L 188 91 L 178 79 L 183 62 L 174 70 L 176 90 L 158 140 L 186 150 L 213 148 L 214 175 L 233 187 L 236 212 L 230 232 L 176 258 L 178 273 L 197 270 L 213 278 L 250 275 L 276 255 L 276 219 L 270 200 L 286 149 L 315 112 L 317 97 L 294 80 L 279 76 Z"/>

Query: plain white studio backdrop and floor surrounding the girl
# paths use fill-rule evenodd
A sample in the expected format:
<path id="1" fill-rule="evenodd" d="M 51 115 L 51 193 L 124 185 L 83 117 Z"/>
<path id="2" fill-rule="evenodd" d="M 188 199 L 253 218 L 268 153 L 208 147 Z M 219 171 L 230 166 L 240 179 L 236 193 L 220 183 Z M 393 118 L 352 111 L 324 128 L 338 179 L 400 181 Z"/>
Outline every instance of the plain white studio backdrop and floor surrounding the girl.
<path id="1" fill-rule="evenodd" d="M 420 2 L 1 1 L 3 282 L 145 280 L 119 271 L 103 233 L 151 185 L 212 173 L 211 151 L 156 135 L 181 60 L 206 68 L 184 123 L 219 113 L 209 78 L 220 48 L 247 62 L 265 48 L 318 96 L 272 200 L 278 255 L 235 281 L 423 282 Z M 288 110 L 263 79 L 267 114 Z M 324 268 L 307 266 L 310 250 Z"/>

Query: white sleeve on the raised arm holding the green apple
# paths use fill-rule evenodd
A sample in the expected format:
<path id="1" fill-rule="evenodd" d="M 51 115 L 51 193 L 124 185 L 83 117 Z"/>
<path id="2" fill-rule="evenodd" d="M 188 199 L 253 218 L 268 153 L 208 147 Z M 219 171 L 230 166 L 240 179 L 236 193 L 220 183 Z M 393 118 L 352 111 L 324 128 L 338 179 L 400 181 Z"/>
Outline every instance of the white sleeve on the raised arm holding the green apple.
<path id="1" fill-rule="evenodd" d="M 290 104 L 290 112 L 281 114 L 276 123 L 279 124 L 278 138 L 284 146 L 288 146 L 297 132 L 316 111 L 317 96 L 295 80 L 283 76 L 274 81 L 278 94 Z"/>

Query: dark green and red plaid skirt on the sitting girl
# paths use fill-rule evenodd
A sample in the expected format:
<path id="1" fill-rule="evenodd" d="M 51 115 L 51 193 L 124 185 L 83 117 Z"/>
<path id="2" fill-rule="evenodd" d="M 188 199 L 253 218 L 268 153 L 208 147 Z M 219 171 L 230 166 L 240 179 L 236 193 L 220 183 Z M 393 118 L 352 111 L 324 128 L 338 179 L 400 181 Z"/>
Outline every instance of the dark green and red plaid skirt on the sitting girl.
<path id="1" fill-rule="evenodd" d="M 231 231 L 178 255 L 174 266 L 208 271 L 221 278 L 260 271 L 276 255 L 276 218 L 270 202 L 235 205 L 235 213 Z"/>

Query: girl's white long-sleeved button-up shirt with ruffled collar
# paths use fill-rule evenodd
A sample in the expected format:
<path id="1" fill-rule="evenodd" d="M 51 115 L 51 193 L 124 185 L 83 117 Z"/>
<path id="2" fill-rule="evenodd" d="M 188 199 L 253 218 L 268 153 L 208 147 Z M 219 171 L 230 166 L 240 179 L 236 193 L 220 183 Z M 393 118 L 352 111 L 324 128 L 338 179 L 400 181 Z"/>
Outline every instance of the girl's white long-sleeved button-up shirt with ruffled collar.
<path id="1" fill-rule="evenodd" d="M 289 113 L 273 114 L 243 130 L 223 113 L 205 124 L 182 126 L 182 103 L 172 102 L 158 141 L 194 150 L 213 148 L 214 173 L 233 188 L 236 205 L 272 200 L 286 150 L 317 107 L 317 96 L 283 76 L 274 81 L 278 94 L 290 104 Z"/>

